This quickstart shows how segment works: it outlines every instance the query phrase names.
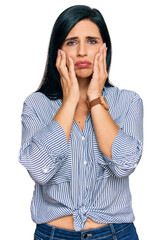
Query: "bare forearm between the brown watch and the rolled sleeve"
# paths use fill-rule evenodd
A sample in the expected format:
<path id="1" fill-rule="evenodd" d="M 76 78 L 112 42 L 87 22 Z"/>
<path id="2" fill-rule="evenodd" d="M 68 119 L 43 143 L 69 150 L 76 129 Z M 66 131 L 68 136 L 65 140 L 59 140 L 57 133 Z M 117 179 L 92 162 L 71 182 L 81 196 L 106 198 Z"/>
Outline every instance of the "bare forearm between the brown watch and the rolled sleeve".
<path id="1" fill-rule="evenodd" d="M 120 127 L 111 118 L 110 113 L 100 104 L 92 107 L 91 117 L 98 146 L 101 152 L 111 158 L 111 146 Z"/>

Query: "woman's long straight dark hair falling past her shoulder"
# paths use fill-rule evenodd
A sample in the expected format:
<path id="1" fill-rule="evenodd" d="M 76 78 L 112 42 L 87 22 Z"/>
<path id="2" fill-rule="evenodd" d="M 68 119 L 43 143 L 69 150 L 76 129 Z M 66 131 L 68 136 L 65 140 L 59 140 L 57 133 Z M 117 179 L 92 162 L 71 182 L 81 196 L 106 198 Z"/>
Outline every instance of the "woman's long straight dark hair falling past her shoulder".
<path id="1" fill-rule="evenodd" d="M 111 63 L 111 40 L 103 16 L 97 9 L 88 6 L 76 5 L 64 10 L 57 18 L 51 33 L 47 62 L 42 82 L 37 92 L 44 93 L 49 99 L 56 100 L 63 97 L 60 83 L 60 75 L 56 68 L 57 51 L 61 48 L 70 30 L 83 19 L 89 19 L 95 23 L 100 31 L 102 40 L 106 43 L 107 50 L 107 72 Z M 107 79 L 105 86 L 112 86 Z"/>

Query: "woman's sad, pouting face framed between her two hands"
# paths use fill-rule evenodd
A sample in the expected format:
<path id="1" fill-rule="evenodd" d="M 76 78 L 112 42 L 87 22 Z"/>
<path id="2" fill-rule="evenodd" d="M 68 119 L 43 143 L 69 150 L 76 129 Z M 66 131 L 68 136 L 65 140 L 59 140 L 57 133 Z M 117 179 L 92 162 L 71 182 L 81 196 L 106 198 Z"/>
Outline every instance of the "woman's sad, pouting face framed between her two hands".
<path id="1" fill-rule="evenodd" d="M 90 20 L 81 20 L 71 29 L 61 49 L 67 58 L 73 59 L 78 78 L 92 75 L 94 59 L 101 45 L 103 41 L 99 29 Z"/>

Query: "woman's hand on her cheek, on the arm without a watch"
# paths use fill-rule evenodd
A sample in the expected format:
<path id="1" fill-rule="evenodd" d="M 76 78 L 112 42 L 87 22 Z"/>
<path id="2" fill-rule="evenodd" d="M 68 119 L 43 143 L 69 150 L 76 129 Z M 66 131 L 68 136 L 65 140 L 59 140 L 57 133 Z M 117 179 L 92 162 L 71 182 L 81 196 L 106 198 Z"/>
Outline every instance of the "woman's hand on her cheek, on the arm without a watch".
<path id="1" fill-rule="evenodd" d="M 60 74 L 60 82 L 63 91 L 63 103 L 70 102 L 71 104 L 77 105 L 80 91 L 78 80 L 74 71 L 74 63 L 70 57 L 67 60 L 65 52 L 60 49 L 58 50 L 56 67 Z"/>

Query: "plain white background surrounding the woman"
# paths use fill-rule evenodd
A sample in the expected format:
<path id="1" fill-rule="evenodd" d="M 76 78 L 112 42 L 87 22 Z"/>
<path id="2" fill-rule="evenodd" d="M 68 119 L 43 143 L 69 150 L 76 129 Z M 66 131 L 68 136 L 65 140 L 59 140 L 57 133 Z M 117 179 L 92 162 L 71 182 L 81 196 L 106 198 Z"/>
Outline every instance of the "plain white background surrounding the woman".
<path id="1" fill-rule="evenodd" d="M 110 80 L 136 91 L 144 103 L 144 151 L 130 177 L 135 225 L 140 240 L 159 239 L 161 231 L 161 1 L 5 0 L 0 4 L 0 216 L 4 240 L 33 239 L 30 216 L 34 183 L 18 162 L 21 111 L 44 72 L 50 33 L 67 7 L 98 8 L 113 47 Z"/>

